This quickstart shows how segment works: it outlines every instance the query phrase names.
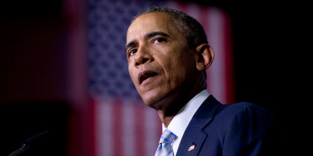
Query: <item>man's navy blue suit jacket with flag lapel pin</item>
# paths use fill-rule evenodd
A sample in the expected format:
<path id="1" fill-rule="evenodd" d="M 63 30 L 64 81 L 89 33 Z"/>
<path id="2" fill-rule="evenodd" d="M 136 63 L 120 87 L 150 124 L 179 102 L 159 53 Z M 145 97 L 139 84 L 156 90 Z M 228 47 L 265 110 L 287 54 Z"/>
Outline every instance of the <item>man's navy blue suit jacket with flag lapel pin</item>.
<path id="1" fill-rule="evenodd" d="M 221 104 L 210 95 L 192 117 L 175 156 L 283 156 L 284 146 L 270 111 L 248 102 Z"/>

